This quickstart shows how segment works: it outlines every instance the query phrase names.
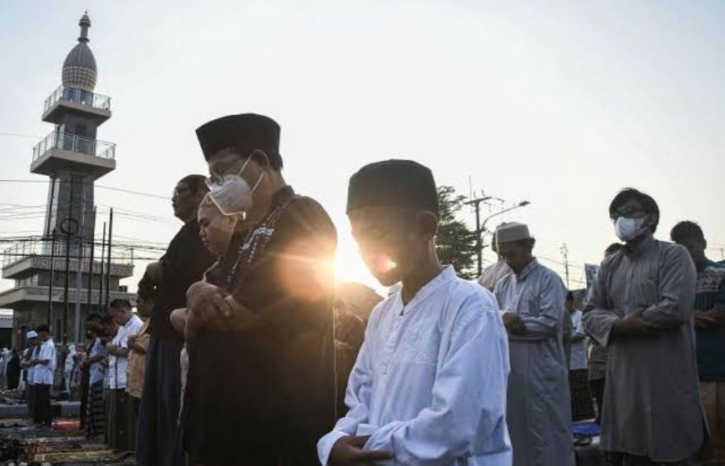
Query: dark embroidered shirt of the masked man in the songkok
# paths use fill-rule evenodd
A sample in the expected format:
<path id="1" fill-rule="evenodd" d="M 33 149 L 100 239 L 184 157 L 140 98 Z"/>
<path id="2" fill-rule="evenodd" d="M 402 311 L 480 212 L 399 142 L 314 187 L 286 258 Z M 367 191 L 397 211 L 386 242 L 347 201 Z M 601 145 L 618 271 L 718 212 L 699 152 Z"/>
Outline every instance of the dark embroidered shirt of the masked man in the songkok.
<path id="1" fill-rule="evenodd" d="M 335 247 L 320 204 L 286 187 L 231 250 L 225 289 L 260 320 L 187 342 L 183 423 L 195 461 L 318 464 L 315 445 L 335 421 Z"/>

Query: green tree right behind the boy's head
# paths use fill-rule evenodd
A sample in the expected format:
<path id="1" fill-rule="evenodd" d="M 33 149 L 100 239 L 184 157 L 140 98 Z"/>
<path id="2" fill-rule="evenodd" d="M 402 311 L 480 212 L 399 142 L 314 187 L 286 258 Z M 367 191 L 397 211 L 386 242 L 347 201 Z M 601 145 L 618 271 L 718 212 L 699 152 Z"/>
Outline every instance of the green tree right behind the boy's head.
<path id="1" fill-rule="evenodd" d="M 476 232 L 457 219 L 465 196 L 457 195 L 452 186 L 438 187 L 439 225 L 436 251 L 441 262 L 451 264 L 463 279 L 476 277 Z"/>

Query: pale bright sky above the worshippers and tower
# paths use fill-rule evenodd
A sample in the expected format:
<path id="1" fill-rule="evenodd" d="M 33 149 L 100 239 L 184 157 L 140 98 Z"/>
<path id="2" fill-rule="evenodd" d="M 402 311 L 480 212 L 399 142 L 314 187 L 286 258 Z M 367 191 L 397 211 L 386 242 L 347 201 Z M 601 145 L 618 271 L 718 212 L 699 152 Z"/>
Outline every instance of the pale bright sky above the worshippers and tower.
<path id="1" fill-rule="evenodd" d="M 2 0 L 1 179 L 45 179 L 29 173 L 53 129 L 43 101 L 86 9 L 96 93 L 112 98 L 98 137 L 117 144 L 97 183 L 160 196 L 96 190 L 101 213 L 134 216 L 115 221 L 120 238 L 166 244 L 181 226 L 175 182 L 206 173 L 195 128 L 253 111 L 281 124 L 286 180 L 336 224 L 340 279 L 375 285 L 344 208 L 350 175 L 385 158 L 507 201 L 484 216 L 528 200 L 498 219 L 529 224 L 560 274 L 566 243 L 572 288 L 616 240 L 608 204 L 627 186 L 658 201 L 660 239 L 694 220 L 723 258 L 724 2 Z M 41 182 L 0 182 L 0 204 L 46 197 Z M 42 228 L 41 215 L 0 215 L 0 238 Z"/>

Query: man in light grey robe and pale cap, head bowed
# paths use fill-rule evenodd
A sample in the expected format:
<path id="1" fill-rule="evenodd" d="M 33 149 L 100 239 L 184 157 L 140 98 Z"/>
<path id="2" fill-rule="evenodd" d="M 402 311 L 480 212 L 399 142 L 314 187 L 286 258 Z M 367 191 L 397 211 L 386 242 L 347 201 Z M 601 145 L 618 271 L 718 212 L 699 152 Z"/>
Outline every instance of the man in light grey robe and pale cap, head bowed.
<path id="1" fill-rule="evenodd" d="M 568 368 L 562 342 L 564 295 L 560 277 L 533 255 L 529 227 L 497 231 L 498 250 L 513 274 L 496 285 L 509 335 L 511 374 L 506 420 L 515 466 L 574 465 Z"/>

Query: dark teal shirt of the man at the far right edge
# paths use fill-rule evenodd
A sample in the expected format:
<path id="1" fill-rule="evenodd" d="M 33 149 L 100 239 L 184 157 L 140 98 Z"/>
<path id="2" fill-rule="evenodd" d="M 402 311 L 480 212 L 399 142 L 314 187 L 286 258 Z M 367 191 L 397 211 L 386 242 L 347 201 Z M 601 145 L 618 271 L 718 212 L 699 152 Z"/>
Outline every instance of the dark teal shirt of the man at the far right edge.
<path id="1" fill-rule="evenodd" d="M 725 264 L 708 261 L 697 271 L 695 312 L 718 308 L 725 313 Z M 702 382 L 725 381 L 725 328 L 706 327 L 695 331 L 697 374 Z"/>

